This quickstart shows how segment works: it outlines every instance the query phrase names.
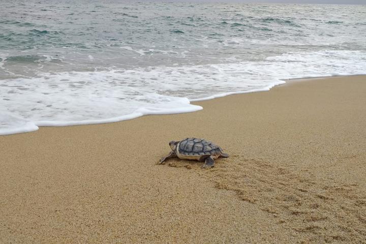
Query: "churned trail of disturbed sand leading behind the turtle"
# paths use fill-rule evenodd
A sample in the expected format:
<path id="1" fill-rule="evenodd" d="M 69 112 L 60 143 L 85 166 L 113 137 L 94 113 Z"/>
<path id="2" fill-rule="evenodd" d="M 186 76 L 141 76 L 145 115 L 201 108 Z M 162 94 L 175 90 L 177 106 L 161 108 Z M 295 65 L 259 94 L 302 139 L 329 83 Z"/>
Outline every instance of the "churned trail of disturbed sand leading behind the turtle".
<path id="1" fill-rule="evenodd" d="M 366 195 L 356 184 L 340 185 L 331 178 L 319 183 L 310 170 L 231 157 L 238 163 L 218 163 L 210 170 L 187 161 L 169 166 L 197 169 L 217 189 L 234 191 L 241 200 L 258 205 L 278 225 L 292 230 L 298 243 L 366 243 Z"/>

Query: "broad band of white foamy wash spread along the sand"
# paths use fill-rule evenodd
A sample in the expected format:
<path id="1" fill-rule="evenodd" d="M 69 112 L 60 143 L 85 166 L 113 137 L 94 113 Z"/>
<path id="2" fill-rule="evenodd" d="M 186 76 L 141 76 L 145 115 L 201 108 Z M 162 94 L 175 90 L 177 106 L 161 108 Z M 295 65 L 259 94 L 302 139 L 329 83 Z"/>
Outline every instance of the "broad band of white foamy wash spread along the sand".
<path id="1" fill-rule="evenodd" d="M 265 91 L 287 79 L 366 74 L 365 56 L 364 51 L 292 52 L 258 62 L 7 79 L 0 84 L 0 134 L 197 111 L 202 107 L 190 102 Z"/>

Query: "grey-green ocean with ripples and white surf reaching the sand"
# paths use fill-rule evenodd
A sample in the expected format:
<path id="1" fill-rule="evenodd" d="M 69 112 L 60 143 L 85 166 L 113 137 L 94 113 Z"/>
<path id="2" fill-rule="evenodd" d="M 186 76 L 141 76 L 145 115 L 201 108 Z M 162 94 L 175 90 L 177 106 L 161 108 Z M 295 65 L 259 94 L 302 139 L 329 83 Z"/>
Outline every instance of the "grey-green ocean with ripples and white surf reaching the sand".
<path id="1" fill-rule="evenodd" d="M 366 74 L 366 6 L 0 1 L 0 135 Z"/>

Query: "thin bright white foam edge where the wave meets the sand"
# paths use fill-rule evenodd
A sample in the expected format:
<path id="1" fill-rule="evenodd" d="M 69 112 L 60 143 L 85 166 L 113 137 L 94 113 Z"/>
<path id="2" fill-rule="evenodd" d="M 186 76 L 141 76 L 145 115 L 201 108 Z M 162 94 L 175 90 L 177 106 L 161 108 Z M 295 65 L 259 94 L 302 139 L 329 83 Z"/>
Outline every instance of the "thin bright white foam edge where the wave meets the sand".
<path id="1" fill-rule="evenodd" d="M 199 98 L 199 99 L 188 99 L 190 105 L 194 105 L 194 103 L 196 102 L 202 102 L 202 101 L 208 101 L 208 100 L 213 100 L 213 99 L 217 99 L 217 98 L 223 98 L 223 97 L 227 97 L 227 96 L 232 96 L 232 95 L 240 95 L 240 94 L 250 94 L 250 93 L 260 93 L 260 92 L 269 92 L 269 90 L 271 90 L 274 87 L 277 86 L 281 86 L 281 85 L 286 85 L 288 83 L 292 83 L 292 82 L 298 82 L 298 81 L 308 81 L 311 79 L 323 79 L 323 78 L 332 78 L 332 77 L 357 77 L 357 76 L 366 76 L 364 74 L 361 75 L 335 75 L 335 76 L 320 76 L 320 77 L 306 77 L 306 78 L 294 78 L 294 79 L 282 79 L 281 81 L 283 81 L 283 83 L 278 83 L 275 85 L 272 85 L 271 87 L 267 87 L 267 88 L 263 88 L 263 89 L 254 89 L 254 90 L 248 90 L 248 91 L 241 91 L 241 92 L 229 92 L 229 93 L 222 93 L 222 94 L 217 94 L 217 95 L 213 95 L 210 97 L 206 97 L 206 98 Z M 195 105 L 194 105 L 195 106 Z M 5 132 L 4 134 L 1 134 L 0 136 L 9 136 L 9 135 L 15 135 L 15 134 L 22 134 L 22 133 L 29 133 L 29 132 L 35 132 L 39 130 L 39 127 L 68 127 L 68 126 L 85 126 L 85 125 L 103 125 L 103 124 L 109 124 L 109 123 L 117 123 L 117 122 L 121 122 L 121 121 L 126 121 L 126 120 L 132 120 L 132 119 L 136 119 L 139 117 L 143 117 L 143 116 L 148 116 L 148 115 L 169 115 L 169 114 L 180 114 L 180 113 L 192 113 L 192 112 L 197 112 L 202 110 L 203 107 L 201 106 L 197 106 L 196 108 L 184 108 L 181 109 L 181 111 L 179 112 L 169 112 L 169 111 L 165 111 L 164 113 L 147 113 L 147 114 L 143 114 L 141 112 L 134 112 L 132 114 L 128 114 L 128 115 L 122 115 L 122 116 L 117 116 L 117 117 L 112 117 L 112 118 L 107 118 L 107 119 L 94 119 L 94 120 L 80 120 L 80 121 L 38 121 L 38 123 L 33 123 L 32 121 L 27 121 L 26 119 L 23 119 L 24 121 L 27 121 L 27 129 L 14 129 L 11 132 Z M 35 127 L 37 127 L 37 129 L 35 129 Z"/>

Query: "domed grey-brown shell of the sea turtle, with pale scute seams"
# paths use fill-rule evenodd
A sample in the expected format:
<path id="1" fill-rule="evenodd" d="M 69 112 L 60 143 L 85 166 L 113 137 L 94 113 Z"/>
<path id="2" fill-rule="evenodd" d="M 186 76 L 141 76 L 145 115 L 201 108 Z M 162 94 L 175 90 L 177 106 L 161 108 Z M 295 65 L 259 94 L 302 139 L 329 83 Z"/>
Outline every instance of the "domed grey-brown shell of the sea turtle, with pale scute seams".
<path id="1" fill-rule="evenodd" d="M 223 152 L 220 146 L 198 138 L 186 138 L 180 141 L 177 149 L 181 155 L 186 156 L 219 155 Z"/>

